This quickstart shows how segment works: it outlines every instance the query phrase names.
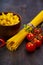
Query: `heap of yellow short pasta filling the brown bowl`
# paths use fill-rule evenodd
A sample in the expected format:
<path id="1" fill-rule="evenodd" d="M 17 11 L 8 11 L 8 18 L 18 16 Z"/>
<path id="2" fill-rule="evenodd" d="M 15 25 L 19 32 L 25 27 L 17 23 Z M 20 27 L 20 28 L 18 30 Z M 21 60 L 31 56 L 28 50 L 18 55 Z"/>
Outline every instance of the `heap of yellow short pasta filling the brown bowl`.
<path id="1" fill-rule="evenodd" d="M 0 25 L 10 26 L 19 23 L 19 16 L 13 13 L 3 13 L 0 15 Z"/>

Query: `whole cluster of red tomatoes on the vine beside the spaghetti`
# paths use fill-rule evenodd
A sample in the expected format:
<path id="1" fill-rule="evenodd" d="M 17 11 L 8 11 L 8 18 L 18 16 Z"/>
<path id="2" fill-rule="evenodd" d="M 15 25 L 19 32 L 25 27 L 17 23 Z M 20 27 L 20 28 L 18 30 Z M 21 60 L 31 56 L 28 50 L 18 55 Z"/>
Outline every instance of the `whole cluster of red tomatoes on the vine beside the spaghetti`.
<path id="1" fill-rule="evenodd" d="M 27 40 L 29 41 L 26 44 L 26 50 L 29 52 L 33 52 L 36 48 L 39 48 L 43 43 L 43 35 L 42 35 L 41 28 L 35 28 L 33 32 L 28 33 L 26 36 Z"/>

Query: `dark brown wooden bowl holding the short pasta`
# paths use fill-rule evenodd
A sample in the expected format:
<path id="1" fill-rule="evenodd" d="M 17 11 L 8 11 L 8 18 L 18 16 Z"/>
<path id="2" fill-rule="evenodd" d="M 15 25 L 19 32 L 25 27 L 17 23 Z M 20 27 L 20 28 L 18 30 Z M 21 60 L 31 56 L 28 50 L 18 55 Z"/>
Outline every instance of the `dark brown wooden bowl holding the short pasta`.
<path id="1" fill-rule="evenodd" d="M 7 14 L 8 12 L 4 12 L 4 13 Z M 0 15 L 2 15 L 2 13 L 0 13 Z M 19 17 L 20 22 L 10 26 L 0 25 L 0 36 L 11 37 L 19 31 L 21 25 L 21 16 L 17 13 L 13 13 L 13 15 L 17 15 Z"/>

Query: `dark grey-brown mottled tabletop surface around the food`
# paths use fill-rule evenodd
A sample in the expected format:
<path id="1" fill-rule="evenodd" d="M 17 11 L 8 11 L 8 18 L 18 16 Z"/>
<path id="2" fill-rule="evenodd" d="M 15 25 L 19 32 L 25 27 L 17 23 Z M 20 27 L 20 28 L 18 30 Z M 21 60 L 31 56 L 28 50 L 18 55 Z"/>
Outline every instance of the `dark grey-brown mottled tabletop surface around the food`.
<path id="1" fill-rule="evenodd" d="M 17 12 L 22 25 L 31 21 L 43 9 L 43 0 L 0 0 L 0 12 Z M 15 52 L 0 48 L 0 65 L 43 65 L 43 45 L 34 53 L 25 51 L 26 40 Z"/>

